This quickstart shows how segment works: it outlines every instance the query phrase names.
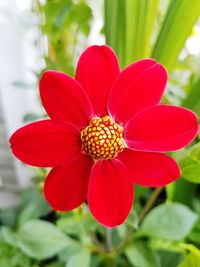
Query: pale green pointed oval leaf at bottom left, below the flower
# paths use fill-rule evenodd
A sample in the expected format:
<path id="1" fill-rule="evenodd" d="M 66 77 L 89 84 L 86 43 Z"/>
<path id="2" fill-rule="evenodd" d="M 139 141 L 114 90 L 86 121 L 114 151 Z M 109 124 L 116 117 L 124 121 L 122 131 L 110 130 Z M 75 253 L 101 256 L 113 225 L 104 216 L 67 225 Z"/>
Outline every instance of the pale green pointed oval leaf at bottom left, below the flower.
<path id="1" fill-rule="evenodd" d="M 24 223 L 17 233 L 17 239 L 21 250 L 38 260 L 56 255 L 71 242 L 55 225 L 41 220 Z"/>

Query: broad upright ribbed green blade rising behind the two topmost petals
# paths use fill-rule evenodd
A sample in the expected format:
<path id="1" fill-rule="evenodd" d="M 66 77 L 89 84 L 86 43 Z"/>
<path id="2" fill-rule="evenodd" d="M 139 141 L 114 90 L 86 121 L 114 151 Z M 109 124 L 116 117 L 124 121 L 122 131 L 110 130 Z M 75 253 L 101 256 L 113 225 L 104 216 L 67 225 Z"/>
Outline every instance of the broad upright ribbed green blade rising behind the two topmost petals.
<path id="1" fill-rule="evenodd" d="M 121 67 L 147 57 L 156 20 L 158 0 L 105 0 L 105 35 Z"/>

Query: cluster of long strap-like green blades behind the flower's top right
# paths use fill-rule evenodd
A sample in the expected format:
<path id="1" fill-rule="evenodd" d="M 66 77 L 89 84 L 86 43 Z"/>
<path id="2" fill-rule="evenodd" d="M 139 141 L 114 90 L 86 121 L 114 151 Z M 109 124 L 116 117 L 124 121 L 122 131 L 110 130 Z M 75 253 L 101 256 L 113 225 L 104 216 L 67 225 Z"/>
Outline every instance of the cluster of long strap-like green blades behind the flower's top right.
<path id="1" fill-rule="evenodd" d="M 122 67 L 143 57 L 153 57 L 172 71 L 200 15 L 198 0 L 192 3 L 172 0 L 164 11 L 158 0 L 105 0 L 104 3 L 106 42 L 119 56 Z M 161 12 L 166 14 L 158 24 Z"/>

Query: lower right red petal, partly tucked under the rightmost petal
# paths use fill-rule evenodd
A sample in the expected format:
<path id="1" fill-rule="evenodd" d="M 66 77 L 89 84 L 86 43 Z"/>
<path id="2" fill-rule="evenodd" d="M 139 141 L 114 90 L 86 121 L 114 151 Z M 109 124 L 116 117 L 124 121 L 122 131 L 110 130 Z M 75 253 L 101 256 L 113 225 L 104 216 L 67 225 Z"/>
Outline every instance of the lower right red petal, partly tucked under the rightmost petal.
<path id="1" fill-rule="evenodd" d="M 118 158 L 131 171 L 135 184 L 165 186 L 180 177 L 176 161 L 165 154 L 125 149 Z"/>

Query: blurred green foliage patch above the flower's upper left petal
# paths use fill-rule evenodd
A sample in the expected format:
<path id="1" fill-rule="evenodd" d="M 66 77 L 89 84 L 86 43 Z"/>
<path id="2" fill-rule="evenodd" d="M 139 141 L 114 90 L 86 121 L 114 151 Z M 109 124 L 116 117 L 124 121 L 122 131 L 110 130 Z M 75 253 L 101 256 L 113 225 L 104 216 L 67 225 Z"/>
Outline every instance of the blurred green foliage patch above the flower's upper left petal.
<path id="1" fill-rule="evenodd" d="M 91 8 L 83 0 L 38 0 L 35 9 L 48 41 L 46 67 L 73 75 L 76 49 L 90 33 Z"/>

